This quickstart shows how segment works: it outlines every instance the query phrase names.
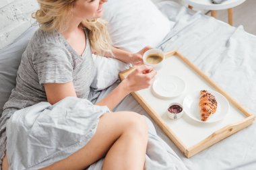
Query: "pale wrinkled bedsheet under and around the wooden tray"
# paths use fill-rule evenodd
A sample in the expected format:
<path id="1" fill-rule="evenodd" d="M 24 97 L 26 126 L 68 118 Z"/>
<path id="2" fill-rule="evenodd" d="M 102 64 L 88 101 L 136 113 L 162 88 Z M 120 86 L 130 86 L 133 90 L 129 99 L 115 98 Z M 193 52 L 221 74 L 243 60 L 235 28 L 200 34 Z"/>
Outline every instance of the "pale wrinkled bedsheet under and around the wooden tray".
<path id="1" fill-rule="evenodd" d="M 175 23 L 160 48 L 166 52 L 179 50 L 249 112 L 256 114 L 256 36 L 247 34 L 242 26 L 228 26 L 171 1 L 158 5 L 168 15 L 170 22 Z M 115 86 L 102 91 L 98 99 Z M 148 116 L 131 95 L 115 109 L 121 110 Z M 154 125 L 158 135 L 181 157 L 188 169 L 256 169 L 255 123 L 189 159 Z"/>

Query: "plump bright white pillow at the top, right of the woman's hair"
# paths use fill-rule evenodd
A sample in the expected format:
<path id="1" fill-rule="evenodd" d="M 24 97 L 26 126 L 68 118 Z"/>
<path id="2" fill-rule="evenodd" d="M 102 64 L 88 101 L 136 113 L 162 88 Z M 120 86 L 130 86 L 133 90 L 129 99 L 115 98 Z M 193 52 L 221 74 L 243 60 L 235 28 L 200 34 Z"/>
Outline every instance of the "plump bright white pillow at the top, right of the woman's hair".
<path id="1" fill-rule="evenodd" d="M 102 19 L 114 45 L 129 52 L 156 47 L 172 28 L 150 0 L 108 0 L 103 7 Z"/>

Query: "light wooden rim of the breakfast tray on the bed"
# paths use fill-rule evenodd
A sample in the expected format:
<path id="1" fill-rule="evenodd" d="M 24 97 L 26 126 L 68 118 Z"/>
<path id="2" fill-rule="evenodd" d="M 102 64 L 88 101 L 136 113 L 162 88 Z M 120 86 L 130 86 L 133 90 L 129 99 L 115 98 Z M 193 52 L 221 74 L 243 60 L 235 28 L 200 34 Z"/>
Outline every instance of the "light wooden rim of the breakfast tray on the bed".
<path id="1" fill-rule="evenodd" d="M 166 58 L 174 55 L 179 56 L 179 58 L 181 58 L 187 65 L 189 65 L 189 67 L 191 67 L 197 74 L 203 77 L 203 79 L 205 79 L 207 83 L 210 83 L 210 85 L 212 85 L 214 89 L 216 89 L 219 93 L 222 93 L 222 95 L 224 95 L 228 99 L 228 101 L 230 101 L 236 108 L 238 108 L 238 110 L 240 110 L 245 116 L 247 116 L 245 120 L 241 120 L 238 123 L 225 126 L 224 128 L 221 128 L 220 130 L 214 132 L 213 134 L 211 134 L 201 142 L 187 148 L 187 146 L 181 140 L 179 140 L 176 134 L 174 134 L 174 132 L 172 132 L 172 130 L 165 125 L 162 118 L 160 118 L 158 114 L 154 113 L 154 111 L 150 108 L 150 105 L 144 102 L 143 98 L 137 92 L 131 93 L 133 97 L 137 100 L 137 102 L 140 103 L 142 108 L 146 110 L 146 112 L 156 122 L 156 124 L 158 124 L 158 126 L 164 131 L 164 133 L 166 133 L 166 135 L 170 138 L 170 140 L 172 140 L 172 142 L 176 144 L 176 146 L 181 150 L 181 152 L 183 152 L 185 157 L 187 158 L 192 157 L 193 155 L 203 151 L 205 148 L 208 148 L 209 146 L 216 144 L 220 140 L 227 138 L 228 136 L 234 134 L 235 132 L 238 132 L 239 130 L 242 130 L 243 128 L 253 123 L 253 120 L 255 120 L 255 116 L 253 114 L 249 113 L 245 108 L 243 108 L 242 105 L 240 105 L 236 100 L 230 97 L 230 95 L 228 95 L 228 93 L 226 93 L 221 87 L 219 87 L 214 81 L 212 81 L 210 77 L 205 75 L 201 70 L 197 69 L 197 67 L 195 67 L 195 65 L 193 65 L 193 63 L 190 62 L 187 58 L 185 58 L 183 54 L 181 54 L 177 50 L 166 52 L 165 54 Z M 119 77 L 121 81 L 123 81 L 123 79 L 125 79 L 125 76 L 133 69 L 135 69 L 135 67 L 132 67 L 127 71 L 123 71 L 119 73 Z"/>

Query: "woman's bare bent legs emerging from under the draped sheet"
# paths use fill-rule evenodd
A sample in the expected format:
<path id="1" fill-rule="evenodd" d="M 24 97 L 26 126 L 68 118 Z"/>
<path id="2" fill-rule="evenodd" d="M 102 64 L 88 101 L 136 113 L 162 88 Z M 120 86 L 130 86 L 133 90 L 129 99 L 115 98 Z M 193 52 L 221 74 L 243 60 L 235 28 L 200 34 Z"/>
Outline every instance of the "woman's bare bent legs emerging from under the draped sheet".
<path id="1" fill-rule="evenodd" d="M 85 169 L 106 156 L 102 169 L 143 169 L 148 126 L 133 112 L 104 114 L 92 139 L 73 155 L 44 169 Z"/>

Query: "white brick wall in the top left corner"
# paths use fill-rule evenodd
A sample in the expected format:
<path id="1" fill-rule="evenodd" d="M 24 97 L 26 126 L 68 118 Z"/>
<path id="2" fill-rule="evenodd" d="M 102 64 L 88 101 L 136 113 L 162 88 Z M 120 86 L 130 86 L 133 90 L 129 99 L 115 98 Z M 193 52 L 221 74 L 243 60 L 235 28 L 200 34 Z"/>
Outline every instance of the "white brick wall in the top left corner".
<path id="1" fill-rule="evenodd" d="M 36 0 L 0 0 L 0 49 L 31 26 L 37 8 Z"/>

